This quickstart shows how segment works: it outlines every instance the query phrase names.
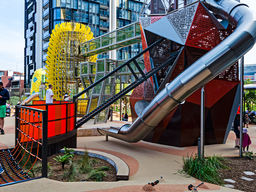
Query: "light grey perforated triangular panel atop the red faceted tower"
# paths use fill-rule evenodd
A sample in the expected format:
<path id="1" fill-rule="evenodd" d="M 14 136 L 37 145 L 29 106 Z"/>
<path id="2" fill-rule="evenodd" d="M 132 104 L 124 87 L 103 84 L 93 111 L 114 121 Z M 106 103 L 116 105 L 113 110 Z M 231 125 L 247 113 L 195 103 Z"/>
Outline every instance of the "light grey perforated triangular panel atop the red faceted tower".
<path id="1" fill-rule="evenodd" d="M 173 28 L 180 36 L 180 39 L 185 44 L 188 32 L 194 19 L 196 9 L 199 3 L 192 4 L 184 9 L 166 15 Z"/>

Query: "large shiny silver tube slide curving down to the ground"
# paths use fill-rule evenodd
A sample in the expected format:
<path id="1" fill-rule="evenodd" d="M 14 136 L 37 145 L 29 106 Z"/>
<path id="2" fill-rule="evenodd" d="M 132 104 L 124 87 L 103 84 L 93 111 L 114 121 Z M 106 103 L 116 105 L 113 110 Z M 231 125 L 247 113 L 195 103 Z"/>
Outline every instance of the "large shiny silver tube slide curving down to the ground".
<path id="1" fill-rule="evenodd" d="M 98 132 L 127 142 L 142 140 L 170 111 L 197 89 L 232 66 L 256 41 L 256 13 L 247 5 L 233 0 L 204 0 L 202 3 L 236 30 L 219 45 L 184 70 L 171 83 L 166 84 L 131 125 Z"/>

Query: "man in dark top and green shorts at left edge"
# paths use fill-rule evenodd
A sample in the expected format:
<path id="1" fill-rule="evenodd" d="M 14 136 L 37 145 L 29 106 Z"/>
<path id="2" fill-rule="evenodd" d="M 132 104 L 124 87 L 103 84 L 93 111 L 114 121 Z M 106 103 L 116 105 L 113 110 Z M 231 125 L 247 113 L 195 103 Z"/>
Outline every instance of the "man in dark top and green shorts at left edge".
<path id="1" fill-rule="evenodd" d="M 4 134 L 4 117 L 6 112 L 6 100 L 10 100 L 10 95 L 7 89 L 4 89 L 3 83 L 0 82 L 0 132 Z"/>

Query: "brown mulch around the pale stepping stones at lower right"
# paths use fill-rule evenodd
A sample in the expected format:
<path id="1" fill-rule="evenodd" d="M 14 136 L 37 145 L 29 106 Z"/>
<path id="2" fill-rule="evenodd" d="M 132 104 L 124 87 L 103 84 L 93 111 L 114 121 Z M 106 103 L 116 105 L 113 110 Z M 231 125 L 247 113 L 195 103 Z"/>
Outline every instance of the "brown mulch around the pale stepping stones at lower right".
<path id="1" fill-rule="evenodd" d="M 223 169 L 220 171 L 221 178 L 232 179 L 236 181 L 235 183 L 224 181 L 225 185 L 234 185 L 234 189 L 245 191 L 245 192 L 255 192 L 256 188 L 256 157 L 252 160 L 244 157 L 226 157 L 226 165 L 230 168 Z M 254 172 L 255 175 L 246 175 L 244 172 L 250 171 Z M 241 177 L 247 177 L 253 179 L 253 181 L 243 180 Z"/>

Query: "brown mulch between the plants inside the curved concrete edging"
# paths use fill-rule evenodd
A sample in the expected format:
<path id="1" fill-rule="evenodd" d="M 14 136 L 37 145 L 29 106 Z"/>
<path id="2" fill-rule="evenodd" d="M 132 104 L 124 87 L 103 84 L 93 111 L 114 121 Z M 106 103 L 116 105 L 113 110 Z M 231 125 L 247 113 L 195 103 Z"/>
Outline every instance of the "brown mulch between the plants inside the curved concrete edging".
<path id="1" fill-rule="evenodd" d="M 51 164 L 52 166 L 52 174 L 48 177 L 48 179 L 64 181 L 64 182 L 69 180 L 69 178 L 63 176 L 63 173 L 68 171 L 68 169 L 70 168 L 70 165 L 67 163 L 64 165 L 64 169 L 62 169 L 61 163 L 53 159 L 53 158 L 56 158 L 56 156 L 63 156 L 63 155 L 64 155 L 63 153 L 59 153 L 59 154 L 48 157 L 48 165 Z M 77 162 L 80 158 L 81 158 L 81 155 L 74 155 L 72 160 L 74 162 Z M 98 167 L 101 167 L 101 166 L 107 166 L 110 168 L 110 170 L 105 171 L 107 176 L 103 177 L 102 181 L 116 181 L 116 169 L 112 164 L 96 157 L 89 157 L 89 158 L 97 159 L 99 161 L 99 164 L 95 164 L 93 169 L 97 169 Z M 81 174 L 79 175 L 78 178 L 76 178 L 76 181 L 81 181 L 81 180 L 94 181 L 92 179 L 86 178 L 86 174 Z"/>

